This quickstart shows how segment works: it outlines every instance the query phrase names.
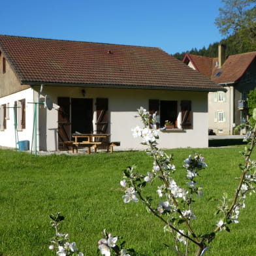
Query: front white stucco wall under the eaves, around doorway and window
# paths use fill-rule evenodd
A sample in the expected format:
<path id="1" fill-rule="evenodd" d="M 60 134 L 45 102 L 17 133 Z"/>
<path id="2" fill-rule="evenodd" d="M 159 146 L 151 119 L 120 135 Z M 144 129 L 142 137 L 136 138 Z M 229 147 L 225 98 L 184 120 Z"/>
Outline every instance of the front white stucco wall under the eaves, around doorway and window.
<path id="1" fill-rule="evenodd" d="M 45 86 L 42 95 L 51 95 L 54 109 L 40 109 L 40 140 L 41 149 L 57 150 L 57 97 L 78 98 L 82 96 L 82 88 L 64 88 Z M 169 101 L 192 101 L 193 129 L 177 132 L 162 132 L 159 135 L 161 148 L 204 148 L 208 147 L 208 108 L 207 93 L 193 91 L 158 91 L 142 89 L 104 89 L 86 88 L 86 98 L 108 98 L 108 112 L 110 125 L 108 133 L 111 141 L 120 141 L 119 150 L 138 150 L 144 146 L 139 139 L 132 137 L 131 129 L 140 125 L 135 118 L 136 109 L 140 106 L 148 109 L 149 99 Z M 178 102 L 180 103 L 180 102 Z M 95 104 L 93 104 L 95 108 Z M 82 113 L 81 113 L 82 114 Z M 47 120 L 47 121 L 46 121 Z M 95 123 L 95 120 L 93 121 Z"/>

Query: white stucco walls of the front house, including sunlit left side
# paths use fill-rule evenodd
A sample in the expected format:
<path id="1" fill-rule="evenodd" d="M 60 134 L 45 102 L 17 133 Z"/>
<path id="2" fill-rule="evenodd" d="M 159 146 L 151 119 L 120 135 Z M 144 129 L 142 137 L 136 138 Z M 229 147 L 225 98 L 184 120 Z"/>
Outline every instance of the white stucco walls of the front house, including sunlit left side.
<path id="1" fill-rule="evenodd" d="M 10 103 L 19 99 L 26 100 L 26 128 L 18 132 L 19 140 L 29 140 L 31 144 L 33 132 L 34 104 L 29 102 L 38 101 L 37 91 L 39 87 L 25 89 L 8 97 L 0 99 L 0 104 Z M 39 135 L 38 150 L 57 150 L 57 97 L 83 98 L 83 88 L 65 88 L 44 86 L 40 101 L 45 95 L 51 95 L 54 108 L 47 110 L 39 105 Z M 181 100 L 192 101 L 193 129 L 184 131 L 159 131 L 159 148 L 206 148 L 208 147 L 208 93 L 194 91 L 159 91 L 142 89 L 104 89 L 85 88 L 88 99 L 93 99 L 95 108 L 96 98 L 108 98 L 108 112 L 110 125 L 108 133 L 111 134 L 110 141 L 119 141 L 121 146 L 118 150 L 140 150 L 145 147 L 140 144 L 140 139 L 133 138 L 131 129 L 141 125 L 139 118 L 135 118 L 136 109 L 144 106 L 148 110 L 149 99 L 168 101 Z M 34 94 L 34 95 L 33 95 Z M 81 113 L 82 114 L 82 113 Z M 93 120 L 95 123 L 95 120 Z M 95 127 L 96 128 L 96 127 Z M 10 112 L 10 120 L 7 120 L 7 130 L 0 132 L 0 146 L 15 147 L 14 119 Z M 34 142 L 35 145 L 35 142 Z"/>

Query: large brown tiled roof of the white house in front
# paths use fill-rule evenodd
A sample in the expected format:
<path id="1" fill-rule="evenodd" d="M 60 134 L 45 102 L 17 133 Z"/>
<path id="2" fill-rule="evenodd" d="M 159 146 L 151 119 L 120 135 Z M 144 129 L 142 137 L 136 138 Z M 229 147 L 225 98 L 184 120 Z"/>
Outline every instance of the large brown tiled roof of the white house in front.
<path id="1" fill-rule="evenodd" d="M 22 84 L 221 88 L 159 48 L 0 35 L 0 50 Z"/>

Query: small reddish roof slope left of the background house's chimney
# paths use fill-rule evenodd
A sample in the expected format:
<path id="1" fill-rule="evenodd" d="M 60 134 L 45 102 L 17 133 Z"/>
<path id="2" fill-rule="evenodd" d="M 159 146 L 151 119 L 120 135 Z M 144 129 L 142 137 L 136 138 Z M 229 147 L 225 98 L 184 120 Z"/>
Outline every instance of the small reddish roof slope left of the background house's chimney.
<path id="1" fill-rule="evenodd" d="M 198 56 L 194 54 L 186 54 L 183 62 L 188 64 L 189 61 L 193 63 L 195 70 L 204 76 L 211 78 L 212 75 L 212 57 Z"/>

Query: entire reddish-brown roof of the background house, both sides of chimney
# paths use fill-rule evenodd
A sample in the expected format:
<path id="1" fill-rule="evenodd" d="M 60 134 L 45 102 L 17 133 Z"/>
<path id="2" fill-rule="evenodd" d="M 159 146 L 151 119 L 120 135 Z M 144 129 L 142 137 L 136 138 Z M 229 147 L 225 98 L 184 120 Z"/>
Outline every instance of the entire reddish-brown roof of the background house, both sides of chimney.
<path id="1" fill-rule="evenodd" d="M 186 54 L 183 62 L 188 64 L 191 61 L 197 71 L 217 84 L 229 84 L 238 82 L 255 57 L 256 52 L 232 55 L 227 57 L 221 68 L 217 65 L 217 57 Z"/>

